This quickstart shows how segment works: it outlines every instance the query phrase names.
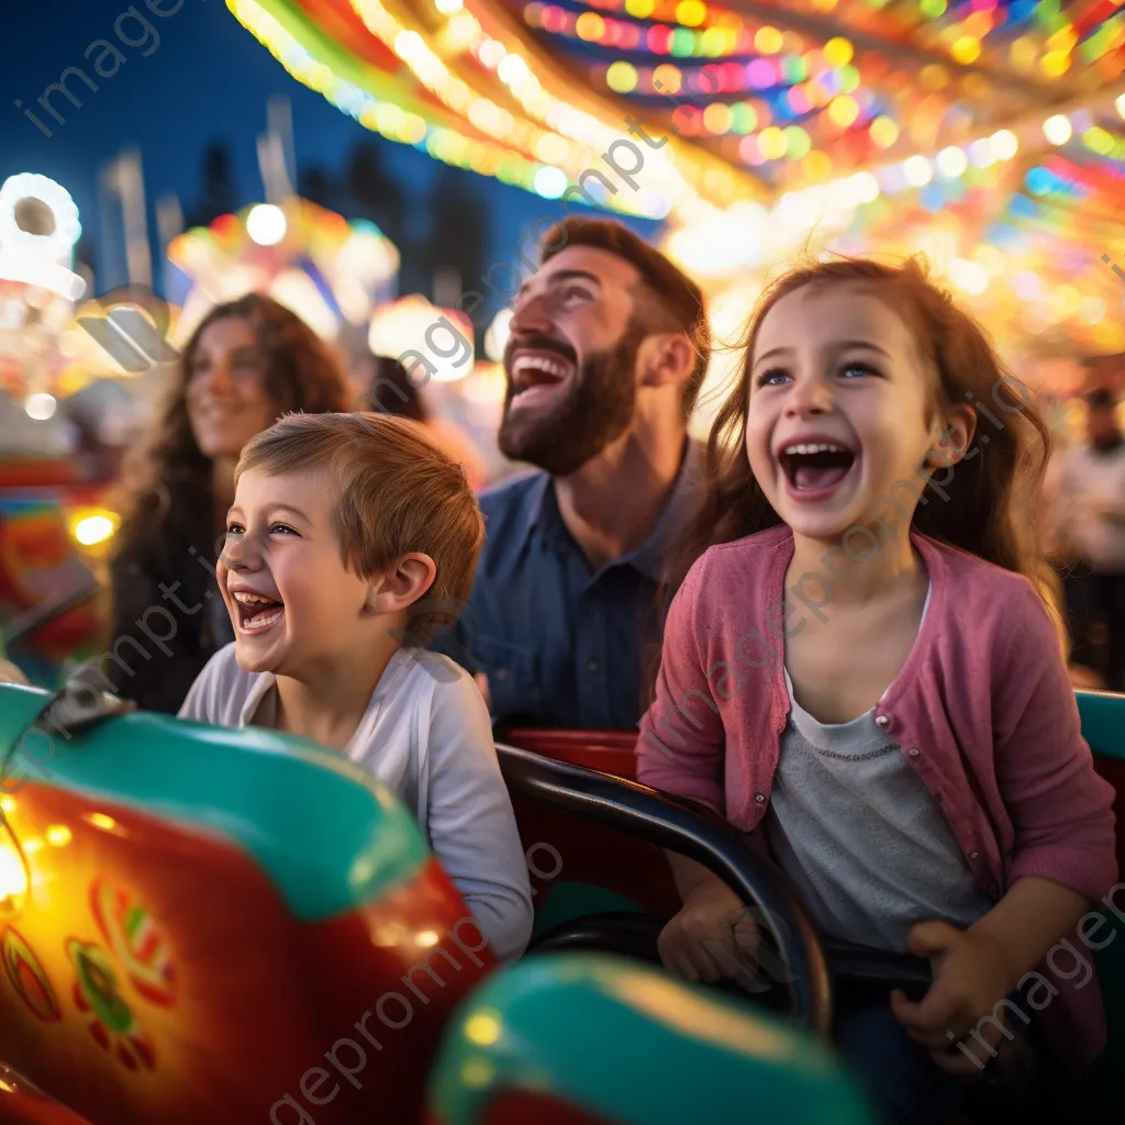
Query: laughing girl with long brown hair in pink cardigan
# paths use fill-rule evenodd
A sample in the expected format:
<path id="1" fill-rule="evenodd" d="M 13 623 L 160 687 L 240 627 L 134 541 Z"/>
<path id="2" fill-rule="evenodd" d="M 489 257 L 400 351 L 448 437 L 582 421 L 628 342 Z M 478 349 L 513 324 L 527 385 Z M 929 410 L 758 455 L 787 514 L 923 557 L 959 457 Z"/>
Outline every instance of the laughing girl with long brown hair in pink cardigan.
<path id="1" fill-rule="evenodd" d="M 1028 514 L 1048 444 L 918 262 L 782 277 L 711 434 L 641 722 L 640 780 L 754 832 L 821 929 L 930 958 L 920 1002 L 837 1022 L 889 1120 L 948 1114 L 950 1074 L 988 1064 L 1006 998 L 1116 876 Z M 737 972 L 742 903 L 673 866 L 665 965 Z M 1044 984 L 1046 1029 L 1089 1061 L 1097 988 Z"/>

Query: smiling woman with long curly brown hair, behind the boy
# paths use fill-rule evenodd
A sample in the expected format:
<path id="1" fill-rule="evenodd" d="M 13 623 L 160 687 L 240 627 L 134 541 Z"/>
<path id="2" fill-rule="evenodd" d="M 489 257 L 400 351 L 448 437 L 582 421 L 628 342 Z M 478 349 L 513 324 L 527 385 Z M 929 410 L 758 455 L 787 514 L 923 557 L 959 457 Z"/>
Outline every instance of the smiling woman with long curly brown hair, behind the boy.
<path id="1" fill-rule="evenodd" d="M 180 359 L 163 417 L 126 474 L 111 570 L 117 694 L 174 713 L 208 658 L 233 640 L 215 594 L 216 544 L 243 446 L 288 411 L 346 411 L 348 384 L 328 349 L 259 294 L 212 309 Z"/>

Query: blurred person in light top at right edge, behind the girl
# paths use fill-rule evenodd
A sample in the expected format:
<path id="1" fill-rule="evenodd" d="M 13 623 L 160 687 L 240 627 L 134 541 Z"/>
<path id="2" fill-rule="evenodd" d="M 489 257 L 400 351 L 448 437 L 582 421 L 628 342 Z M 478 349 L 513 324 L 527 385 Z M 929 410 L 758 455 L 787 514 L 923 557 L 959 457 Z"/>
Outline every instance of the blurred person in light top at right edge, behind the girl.
<path id="1" fill-rule="evenodd" d="M 1125 434 L 1108 388 L 1087 394 L 1086 441 L 1060 454 L 1054 492 L 1071 662 L 1098 669 L 1112 691 L 1125 691 Z M 1099 622 L 1108 632 L 1104 659 Z"/>

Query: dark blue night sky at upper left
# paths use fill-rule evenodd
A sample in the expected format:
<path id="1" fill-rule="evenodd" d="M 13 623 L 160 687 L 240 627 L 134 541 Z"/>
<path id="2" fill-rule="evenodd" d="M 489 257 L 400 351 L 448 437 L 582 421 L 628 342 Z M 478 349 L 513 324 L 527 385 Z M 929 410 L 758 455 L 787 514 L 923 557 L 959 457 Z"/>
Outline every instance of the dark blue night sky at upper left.
<path id="1" fill-rule="evenodd" d="M 165 10 L 176 7 L 176 0 L 152 2 Z M 189 209 L 199 196 L 201 156 L 208 143 L 227 143 L 232 150 L 240 207 L 264 198 L 255 138 L 266 129 L 266 104 L 274 94 L 286 96 L 292 106 L 298 171 L 317 164 L 340 172 L 352 145 L 375 142 L 388 170 L 411 186 L 416 222 L 429 223 L 435 162 L 424 152 L 384 141 L 291 79 L 223 0 L 183 0 L 174 15 L 164 18 L 137 0 L 135 9 L 160 36 L 155 47 L 151 34 L 130 17 L 122 22 L 122 34 L 137 46 L 122 43 L 114 25 L 129 10 L 123 0 L 35 0 L 34 4 L 4 0 L 3 7 L 0 181 L 16 172 L 38 172 L 70 191 L 83 231 L 94 243 L 99 291 L 124 281 L 124 276 L 114 276 L 124 267 L 120 249 L 101 244 L 98 168 L 127 146 L 140 147 L 155 252 L 155 200 L 172 192 Z M 93 69 L 104 48 L 86 57 L 96 39 L 109 40 L 125 55 L 126 62 L 110 78 L 97 76 Z M 144 51 L 150 52 L 147 57 Z M 37 98 L 68 66 L 86 71 L 98 91 L 72 78 L 68 87 L 82 107 L 54 94 L 52 105 L 65 119 L 60 125 L 37 105 Z M 107 57 L 102 70 L 111 66 Z M 22 109 L 14 105 L 16 99 L 22 101 Z M 54 135 L 44 136 L 24 109 L 35 111 Z M 544 200 L 470 172 L 457 174 L 464 177 L 466 190 L 479 191 L 485 200 L 489 261 L 511 255 L 520 231 L 546 213 Z M 651 226 L 638 224 L 638 228 Z M 160 271 L 154 276 L 159 279 Z"/>

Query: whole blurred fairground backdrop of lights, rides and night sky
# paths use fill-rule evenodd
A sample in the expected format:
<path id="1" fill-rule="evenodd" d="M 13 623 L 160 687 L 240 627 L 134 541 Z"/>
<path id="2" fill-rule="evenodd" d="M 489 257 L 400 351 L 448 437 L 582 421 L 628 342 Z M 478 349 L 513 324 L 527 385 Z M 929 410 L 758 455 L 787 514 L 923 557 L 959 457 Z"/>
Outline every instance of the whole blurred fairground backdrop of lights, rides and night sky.
<path id="1" fill-rule="evenodd" d="M 296 312 L 357 396 L 378 357 L 459 323 L 471 361 L 431 357 L 418 394 L 480 486 L 514 468 L 495 446 L 510 298 L 568 209 L 665 250 L 720 340 L 798 253 L 920 251 L 1060 447 L 1087 441 L 1083 395 L 1125 389 L 1122 0 L 46 0 L 4 19 L 0 624 L 40 683 L 105 646 L 123 459 L 192 328 L 248 291 Z"/>

